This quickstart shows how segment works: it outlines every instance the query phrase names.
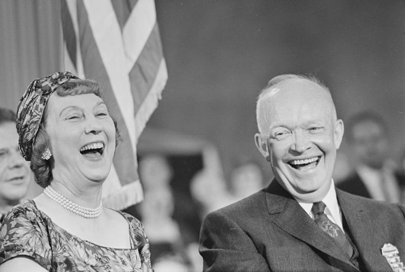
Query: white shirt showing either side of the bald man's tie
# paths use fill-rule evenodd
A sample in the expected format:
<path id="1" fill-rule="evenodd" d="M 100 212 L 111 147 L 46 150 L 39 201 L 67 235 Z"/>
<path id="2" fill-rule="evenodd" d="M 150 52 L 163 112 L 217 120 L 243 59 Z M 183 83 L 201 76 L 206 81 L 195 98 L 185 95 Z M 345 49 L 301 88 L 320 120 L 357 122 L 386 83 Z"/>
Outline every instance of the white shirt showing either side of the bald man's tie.
<path id="1" fill-rule="evenodd" d="M 325 203 L 325 214 L 328 216 L 329 220 L 337 224 L 340 229 L 343 230 L 343 223 L 342 223 L 342 212 L 340 210 L 338 199 L 336 198 L 336 190 L 335 190 L 335 183 L 332 179 L 331 186 L 329 187 L 328 193 L 325 198 L 322 199 L 322 202 Z M 304 209 L 304 211 L 314 219 L 314 216 L 311 212 L 313 203 L 304 203 L 298 201 L 300 206 Z"/>

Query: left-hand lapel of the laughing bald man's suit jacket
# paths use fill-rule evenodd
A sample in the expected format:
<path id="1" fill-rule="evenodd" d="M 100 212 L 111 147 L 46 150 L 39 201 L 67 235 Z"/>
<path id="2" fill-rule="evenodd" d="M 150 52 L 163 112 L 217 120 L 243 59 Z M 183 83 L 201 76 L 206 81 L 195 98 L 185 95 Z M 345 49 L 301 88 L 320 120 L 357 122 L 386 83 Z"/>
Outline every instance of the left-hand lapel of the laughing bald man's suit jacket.
<path id="1" fill-rule="evenodd" d="M 266 190 L 271 220 L 297 239 L 332 257 L 331 263 L 345 271 L 358 271 L 331 237 L 323 232 L 298 202 L 273 180 Z"/>

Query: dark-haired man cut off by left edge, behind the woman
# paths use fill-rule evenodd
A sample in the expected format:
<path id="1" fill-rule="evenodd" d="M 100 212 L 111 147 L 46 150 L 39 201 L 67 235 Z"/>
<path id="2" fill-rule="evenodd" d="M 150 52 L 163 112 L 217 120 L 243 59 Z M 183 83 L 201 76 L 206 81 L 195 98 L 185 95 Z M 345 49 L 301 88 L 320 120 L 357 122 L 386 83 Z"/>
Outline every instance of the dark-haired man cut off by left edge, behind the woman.
<path id="1" fill-rule="evenodd" d="M 8 210 L 26 196 L 30 184 L 29 162 L 17 146 L 16 115 L 0 108 L 0 224 Z"/>

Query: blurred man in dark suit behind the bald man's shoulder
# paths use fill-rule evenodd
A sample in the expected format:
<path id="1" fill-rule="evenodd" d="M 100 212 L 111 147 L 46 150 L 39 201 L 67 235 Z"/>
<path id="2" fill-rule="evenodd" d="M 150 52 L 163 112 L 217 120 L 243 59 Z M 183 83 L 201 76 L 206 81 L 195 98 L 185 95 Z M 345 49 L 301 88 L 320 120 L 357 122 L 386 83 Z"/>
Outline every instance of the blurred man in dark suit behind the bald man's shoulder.
<path id="1" fill-rule="evenodd" d="M 374 112 L 360 112 L 349 119 L 346 135 L 355 171 L 343 179 L 338 188 L 375 200 L 403 202 L 405 176 L 390 158 L 384 120 Z"/>

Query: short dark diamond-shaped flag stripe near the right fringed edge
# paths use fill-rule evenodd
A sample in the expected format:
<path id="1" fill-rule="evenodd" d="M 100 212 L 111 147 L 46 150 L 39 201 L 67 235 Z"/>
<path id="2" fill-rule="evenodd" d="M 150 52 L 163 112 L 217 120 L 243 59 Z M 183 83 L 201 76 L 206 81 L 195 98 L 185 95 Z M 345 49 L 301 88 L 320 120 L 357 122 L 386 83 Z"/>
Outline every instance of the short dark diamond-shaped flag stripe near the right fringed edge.
<path id="1" fill-rule="evenodd" d="M 155 24 L 142 53 L 130 71 L 135 113 L 137 113 L 140 105 L 144 102 L 155 80 L 161 59 L 163 59 L 163 51 L 161 49 L 158 27 Z"/>

